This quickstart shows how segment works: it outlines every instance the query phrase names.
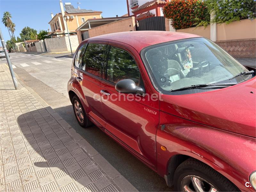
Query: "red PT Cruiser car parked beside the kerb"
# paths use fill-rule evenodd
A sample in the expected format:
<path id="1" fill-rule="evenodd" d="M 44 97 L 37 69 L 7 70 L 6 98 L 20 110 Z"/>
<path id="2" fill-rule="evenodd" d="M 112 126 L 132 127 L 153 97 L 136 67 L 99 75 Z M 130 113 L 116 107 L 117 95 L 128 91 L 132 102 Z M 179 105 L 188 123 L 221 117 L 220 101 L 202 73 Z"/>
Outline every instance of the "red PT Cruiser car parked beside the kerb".
<path id="1" fill-rule="evenodd" d="M 82 127 L 94 123 L 175 191 L 254 191 L 249 70 L 197 35 L 113 33 L 78 46 L 68 93 Z"/>

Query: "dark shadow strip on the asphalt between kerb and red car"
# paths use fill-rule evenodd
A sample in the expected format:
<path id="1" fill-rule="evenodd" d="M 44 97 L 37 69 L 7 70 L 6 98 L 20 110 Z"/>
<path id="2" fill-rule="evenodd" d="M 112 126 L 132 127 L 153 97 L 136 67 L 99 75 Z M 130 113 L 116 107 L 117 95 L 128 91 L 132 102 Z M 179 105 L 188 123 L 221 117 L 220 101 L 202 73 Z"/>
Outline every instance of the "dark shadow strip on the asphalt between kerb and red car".
<path id="1" fill-rule="evenodd" d="M 162 177 L 98 127 L 95 125 L 87 128 L 81 127 L 76 121 L 72 105 L 54 110 L 139 191 L 173 191 L 173 188 L 166 186 Z"/>

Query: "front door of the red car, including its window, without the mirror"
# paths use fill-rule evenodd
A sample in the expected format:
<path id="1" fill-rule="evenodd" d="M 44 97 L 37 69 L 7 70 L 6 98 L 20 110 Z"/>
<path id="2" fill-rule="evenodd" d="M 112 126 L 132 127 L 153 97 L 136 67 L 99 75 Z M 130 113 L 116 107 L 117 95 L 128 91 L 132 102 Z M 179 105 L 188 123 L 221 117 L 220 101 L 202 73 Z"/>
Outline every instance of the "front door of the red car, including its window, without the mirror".
<path id="1" fill-rule="evenodd" d="M 118 45 L 119 47 L 108 46 L 101 84 L 102 114 L 106 121 L 105 132 L 156 170 L 159 101 L 150 100 L 151 92 L 143 82 L 145 74 L 140 72 L 142 66 L 139 68 L 134 59 L 140 57 L 138 52 L 128 45 L 126 47 Z M 135 96 L 132 93 L 117 92 L 115 84 L 122 79 L 132 79 L 136 85 L 145 87 L 147 94 Z"/>

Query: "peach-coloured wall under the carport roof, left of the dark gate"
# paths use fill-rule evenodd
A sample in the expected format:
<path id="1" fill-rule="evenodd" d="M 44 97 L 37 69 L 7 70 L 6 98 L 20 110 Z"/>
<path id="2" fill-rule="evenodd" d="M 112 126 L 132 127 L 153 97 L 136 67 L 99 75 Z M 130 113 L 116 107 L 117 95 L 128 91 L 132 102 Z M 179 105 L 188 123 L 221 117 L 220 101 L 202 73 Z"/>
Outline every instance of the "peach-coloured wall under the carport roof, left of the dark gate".
<path id="1" fill-rule="evenodd" d="M 89 36 L 99 36 L 109 33 L 123 32 L 123 31 L 136 31 L 135 18 L 130 17 L 127 19 L 115 21 L 99 27 L 89 29 Z"/>

